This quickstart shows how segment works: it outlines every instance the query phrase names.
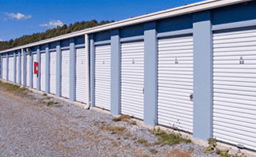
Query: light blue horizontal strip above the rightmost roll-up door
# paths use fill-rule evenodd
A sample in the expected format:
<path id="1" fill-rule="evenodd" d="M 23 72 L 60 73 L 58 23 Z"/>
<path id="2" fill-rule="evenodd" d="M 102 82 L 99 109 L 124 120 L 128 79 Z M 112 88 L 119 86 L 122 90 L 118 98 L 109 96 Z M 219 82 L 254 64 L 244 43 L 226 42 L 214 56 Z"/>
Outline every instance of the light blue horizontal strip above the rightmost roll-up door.
<path id="1" fill-rule="evenodd" d="M 223 29 L 232 29 L 232 28 L 245 28 L 245 27 L 251 27 L 251 26 L 256 26 L 256 20 L 213 25 L 213 31 L 218 31 Z"/>

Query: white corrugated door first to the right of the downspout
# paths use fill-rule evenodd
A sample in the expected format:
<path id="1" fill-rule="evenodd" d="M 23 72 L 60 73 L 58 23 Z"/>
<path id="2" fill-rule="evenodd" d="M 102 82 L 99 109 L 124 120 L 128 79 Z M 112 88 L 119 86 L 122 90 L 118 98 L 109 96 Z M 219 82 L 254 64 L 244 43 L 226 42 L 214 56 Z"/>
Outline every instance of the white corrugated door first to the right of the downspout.
<path id="1" fill-rule="evenodd" d="M 111 110 L 111 46 L 95 47 L 95 106 Z"/>

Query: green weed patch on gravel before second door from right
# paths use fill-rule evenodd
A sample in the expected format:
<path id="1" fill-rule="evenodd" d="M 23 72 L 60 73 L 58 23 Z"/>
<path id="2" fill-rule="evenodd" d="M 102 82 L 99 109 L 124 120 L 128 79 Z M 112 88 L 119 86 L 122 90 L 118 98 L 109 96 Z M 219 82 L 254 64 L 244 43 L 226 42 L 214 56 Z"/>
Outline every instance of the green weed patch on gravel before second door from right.
<path id="1" fill-rule="evenodd" d="M 160 129 L 153 129 L 152 133 L 158 136 L 158 141 L 156 141 L 156 144 L 160 144 L 161 146 L 165 144 L 179 144 L 181 142 L 185 142 L 186 144 L 188 144 L 191 142 L 191 140 L 184 139 L 180 135 L 177 135 L 175 133 L 164 133 L 164 131 Z"/>

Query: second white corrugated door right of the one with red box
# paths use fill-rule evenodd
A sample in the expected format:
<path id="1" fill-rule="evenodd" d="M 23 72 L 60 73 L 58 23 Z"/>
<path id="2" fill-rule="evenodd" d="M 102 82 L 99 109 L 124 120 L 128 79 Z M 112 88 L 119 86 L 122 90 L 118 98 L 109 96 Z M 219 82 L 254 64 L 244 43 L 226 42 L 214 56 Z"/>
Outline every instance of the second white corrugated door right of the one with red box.
<path id="1" fill-rule="evenodd" d="M 56 95 L 56 51 L 50 53 L 50 92 Z"/>

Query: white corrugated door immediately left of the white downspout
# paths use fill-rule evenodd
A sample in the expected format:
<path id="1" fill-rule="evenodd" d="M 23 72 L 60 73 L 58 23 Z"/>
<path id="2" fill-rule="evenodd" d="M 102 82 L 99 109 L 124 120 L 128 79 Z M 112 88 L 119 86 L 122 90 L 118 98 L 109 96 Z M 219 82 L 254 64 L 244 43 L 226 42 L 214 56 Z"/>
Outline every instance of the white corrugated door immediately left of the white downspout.
<path id="1" fill-rule="evenodd" d="M 85 48 L 77 49 L 76 70 L 76 100 L 86 103 L 87 84 Z"/>

